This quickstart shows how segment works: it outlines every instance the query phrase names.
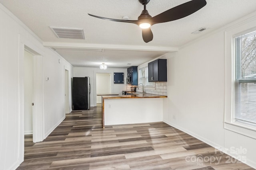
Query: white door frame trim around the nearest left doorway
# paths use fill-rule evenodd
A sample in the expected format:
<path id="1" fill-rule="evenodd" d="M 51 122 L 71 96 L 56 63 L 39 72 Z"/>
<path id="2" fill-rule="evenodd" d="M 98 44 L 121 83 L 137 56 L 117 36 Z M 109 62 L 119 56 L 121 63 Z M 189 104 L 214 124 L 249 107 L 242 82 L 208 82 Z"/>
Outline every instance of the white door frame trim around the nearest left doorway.
<path id="1" fill-rule="evenodd" d="M 19 77 L 19 130 L 18 130 L 18 161 L 24 161 L 24 50 L 33 55 L 33 142 L 44 140 L 44 82 L 43 56 L 44 51 L 31 40 L 19 34 L 18 77 Z"/>

